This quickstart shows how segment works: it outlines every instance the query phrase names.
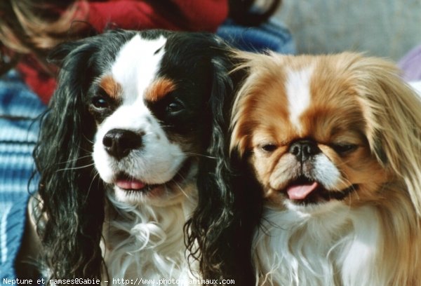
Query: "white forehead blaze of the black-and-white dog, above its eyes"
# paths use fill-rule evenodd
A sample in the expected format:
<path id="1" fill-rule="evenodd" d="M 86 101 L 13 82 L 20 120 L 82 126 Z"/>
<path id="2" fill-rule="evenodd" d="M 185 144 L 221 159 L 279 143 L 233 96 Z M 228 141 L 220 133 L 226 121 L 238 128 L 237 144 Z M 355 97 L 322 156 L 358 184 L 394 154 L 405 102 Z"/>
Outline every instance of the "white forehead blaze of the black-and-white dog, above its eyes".
<path id="1" fill-rule="evenodd" d="M 123 87 L 124 102 L 143 96 L 156 78 L 166 38 L 142 39 L 139 34 L 125 43 L 112 64 L 112 76 Z"/>

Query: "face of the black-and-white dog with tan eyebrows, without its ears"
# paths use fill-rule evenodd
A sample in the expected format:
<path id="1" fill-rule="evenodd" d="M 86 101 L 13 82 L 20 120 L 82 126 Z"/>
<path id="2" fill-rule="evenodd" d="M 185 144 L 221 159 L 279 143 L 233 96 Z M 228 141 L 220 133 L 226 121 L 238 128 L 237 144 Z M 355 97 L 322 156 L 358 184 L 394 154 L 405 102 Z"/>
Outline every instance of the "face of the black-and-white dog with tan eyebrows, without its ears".
<path id="1" fill-rule="evenodd" d="M 195 182 L 211 132 L 206 109 L 218 64 L 213 57 L 221 53 L 214 41 L 133 33 L 95 74 L 84 99 L 98 125 L 93 159 L 117 200 L 172 203 Z"/>

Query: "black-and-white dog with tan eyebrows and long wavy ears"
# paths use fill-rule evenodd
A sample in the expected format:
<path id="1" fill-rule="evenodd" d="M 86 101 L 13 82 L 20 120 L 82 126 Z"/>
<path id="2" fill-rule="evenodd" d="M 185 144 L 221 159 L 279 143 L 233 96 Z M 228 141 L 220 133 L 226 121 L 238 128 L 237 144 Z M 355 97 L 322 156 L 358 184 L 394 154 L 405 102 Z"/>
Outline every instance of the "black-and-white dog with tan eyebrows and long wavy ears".
<path id="1" fill-rule="evenodd" d="M 52 59 L 61 69 L 34 152 L 32 204 L 48 276 L 200 275 L 184 226 L 197 185 L 211 189 L 222 175 L 233 88 L 225 43 L 114 30 L 62 44 Z"/>

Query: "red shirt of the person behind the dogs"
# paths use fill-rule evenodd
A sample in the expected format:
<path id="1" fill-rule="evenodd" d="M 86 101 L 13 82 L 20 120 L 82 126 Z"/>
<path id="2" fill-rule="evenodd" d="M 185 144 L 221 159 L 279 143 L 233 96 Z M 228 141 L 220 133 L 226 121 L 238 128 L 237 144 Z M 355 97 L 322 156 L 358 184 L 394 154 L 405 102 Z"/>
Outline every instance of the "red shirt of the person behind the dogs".
<path id="1" fill-rule="evenodd" d="M 227 0 L 109 0 L 79 1 L 74 20 L 91 24 L 97 32 L 106 27 L 122 29 L 171 29 L 215 32 L 227 18 Z M 18 66 L 27 86 L 44 103 L 55 89 L 55 79 L 33 57 L 25 57 Z"/>

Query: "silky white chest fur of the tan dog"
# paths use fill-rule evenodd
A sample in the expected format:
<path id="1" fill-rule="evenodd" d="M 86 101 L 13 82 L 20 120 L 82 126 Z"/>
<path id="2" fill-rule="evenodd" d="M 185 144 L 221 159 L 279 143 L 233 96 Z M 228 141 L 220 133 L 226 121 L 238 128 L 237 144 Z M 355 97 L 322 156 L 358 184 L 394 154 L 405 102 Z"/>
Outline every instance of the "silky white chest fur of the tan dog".
<path id="1" fill-rule="evenodd" d="M 264 218 L 254 239 L 259 285 L 387 285 L 376 267 L 382 241 L 374 207 L 338 203 L 312 214 L 267 208 Z"/>

